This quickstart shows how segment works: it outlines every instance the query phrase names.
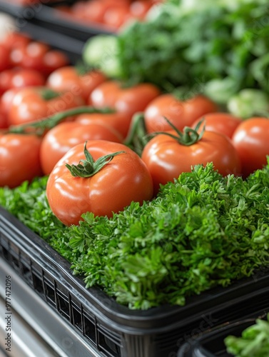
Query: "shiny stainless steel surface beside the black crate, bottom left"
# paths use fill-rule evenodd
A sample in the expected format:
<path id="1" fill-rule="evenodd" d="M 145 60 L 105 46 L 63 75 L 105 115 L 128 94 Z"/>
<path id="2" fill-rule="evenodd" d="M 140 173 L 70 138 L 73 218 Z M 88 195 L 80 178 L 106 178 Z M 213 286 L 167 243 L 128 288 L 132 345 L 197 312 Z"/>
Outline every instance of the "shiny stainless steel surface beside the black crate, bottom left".
<path id="1" fill-rule="evenodd" d="M 27 286 L 26 283 L 19 278 L 16 271 L 2 258 L 0 258 L 1 341 L 3 341 L 3 337 L 6 336 L 6 331 L 3 331 L 3 327 L 6 326 L 4 320 L 6 312 L 4 303 L 6 276 L 11 276 L 11 309 L 13 312 L 11 320 L 12 355 L 9 354 L 9 356 L 103 356 L 102 353 L 89 346 L 88 343 L 76 333 L 73 326 L 68 326 L 66 321 L 48 306 L 36 292 Z M 25 333 L 21 334 L 21 331 L 24 330 L 24 326 L 26 326 L 25 323 L 28 325 L 28 328 Z M 35 341 L 33 345 L 29 343 L 31 339 Z M 16 350 L 16 346 L 21 346 L 21 351 Z M 38 352 L 35 348 L 43 348 L 42 353 Z M 28 354 L 22 354 L 24 352 L 23 349 L 26 349 Z"/>

